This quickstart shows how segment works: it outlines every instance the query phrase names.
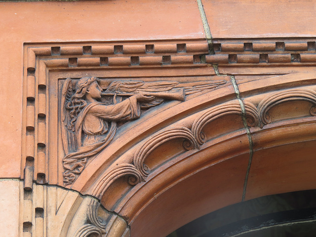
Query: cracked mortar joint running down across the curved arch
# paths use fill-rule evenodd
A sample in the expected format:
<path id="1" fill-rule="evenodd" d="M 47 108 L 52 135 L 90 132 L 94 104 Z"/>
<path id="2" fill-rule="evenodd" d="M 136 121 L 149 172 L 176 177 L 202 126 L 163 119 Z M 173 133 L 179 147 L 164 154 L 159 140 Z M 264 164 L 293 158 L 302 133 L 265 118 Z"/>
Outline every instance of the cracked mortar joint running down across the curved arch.
<path id="1" fill-rule="evenodd" d="M 242 118 L 243 126 L 246 129 L 248 141 L 249 141 L 249 160 L 248 160 L 248 166 L 247 166 L 247 171 L 246 171 L 246 176 L 245 176 L 245 181 L 243 183 L 243 191 L 242 191 L 242 201 L 244 201 L 245 196 L 246 196 L 247 182 L 248 182 L 249 171 L 250 171 L 250 166 L 251 166 L 252 156 L 253 156 L 253 142 L 252 142 L 252 138 L 251 138 L 251 134 L 250 134 L 250 129 L 247 125 L 246 109 L 245 109 L 245 106 L 244 106 L 242 100 L 240 99 L 239 89 L 238 89 L 237 82 L 236 82 L 236 79 L 234 76 L 231 76 L 231 81 L 232 81 L 232 84 L 233 84 L 233 87 L 234 87 L 234 90 L 236 93 L 237 100 L 240 104 L 241 118 Z"/>

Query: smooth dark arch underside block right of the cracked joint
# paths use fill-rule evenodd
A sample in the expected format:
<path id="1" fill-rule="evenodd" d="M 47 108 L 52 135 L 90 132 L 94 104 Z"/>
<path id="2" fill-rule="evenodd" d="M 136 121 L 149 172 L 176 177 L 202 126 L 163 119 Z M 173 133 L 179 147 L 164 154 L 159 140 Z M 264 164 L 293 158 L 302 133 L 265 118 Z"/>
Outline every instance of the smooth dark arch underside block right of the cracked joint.
<path id="1" fill-rule="evenodd" d="M 246 198 L 315 189 L 314 147 L 309 141 L 255 151 Z"/>

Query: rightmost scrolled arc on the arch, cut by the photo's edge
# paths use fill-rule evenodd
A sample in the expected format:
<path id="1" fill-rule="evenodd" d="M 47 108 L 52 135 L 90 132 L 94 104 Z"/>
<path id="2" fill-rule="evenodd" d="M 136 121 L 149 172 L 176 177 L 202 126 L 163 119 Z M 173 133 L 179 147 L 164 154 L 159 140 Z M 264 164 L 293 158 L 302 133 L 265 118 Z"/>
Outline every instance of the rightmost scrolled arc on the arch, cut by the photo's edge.
<path id="1" fill-rule="evenodd" d="M 262 123 L 264 125 L 271 123 L 269 111 L 276 105 L 297 100 L 312 103 L 313 106 L 310 109 L 310 114 L 316 116 L 316 92 L 310 89 L 291 89 L 276 92 L 259 103 L 258 111 Z"/>

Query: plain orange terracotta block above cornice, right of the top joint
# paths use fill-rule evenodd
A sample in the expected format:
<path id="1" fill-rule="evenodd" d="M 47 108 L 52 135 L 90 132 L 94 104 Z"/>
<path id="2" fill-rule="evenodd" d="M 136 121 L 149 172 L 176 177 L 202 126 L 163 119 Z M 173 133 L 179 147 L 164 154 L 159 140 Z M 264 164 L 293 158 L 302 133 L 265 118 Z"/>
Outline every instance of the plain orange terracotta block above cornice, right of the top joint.
<path id="1" fill-rule="evenodd" d="M 316 4 L 313 0 L 202 2 L 215 39 L 315 36 L 313 22 Z"/>

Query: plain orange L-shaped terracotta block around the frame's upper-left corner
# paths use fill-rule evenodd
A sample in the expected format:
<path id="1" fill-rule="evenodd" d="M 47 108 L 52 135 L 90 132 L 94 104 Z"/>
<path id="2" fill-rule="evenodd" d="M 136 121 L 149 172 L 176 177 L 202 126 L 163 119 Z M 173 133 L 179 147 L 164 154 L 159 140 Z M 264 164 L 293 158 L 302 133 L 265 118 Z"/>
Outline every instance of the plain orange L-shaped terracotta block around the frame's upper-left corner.
<path id="1" fill-rule="evenodd" d="M 7 101 L 0 107 L 1 177 L 20 177 L 24 42 L 204 38 L 197 4 L 192 1 L 0 2 L 0 9 L 1 55 L 8 55 L 0 59 L 6 74 L 3 87 L 8 88 L 0 95 L 1 101 Z"/>

